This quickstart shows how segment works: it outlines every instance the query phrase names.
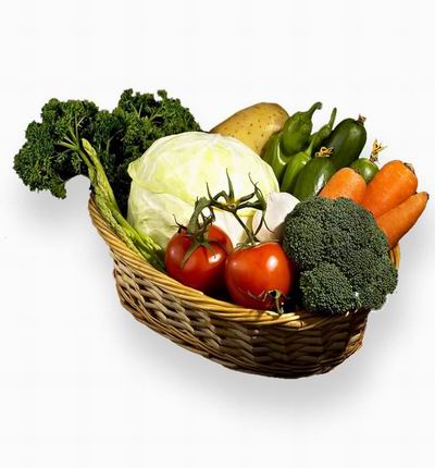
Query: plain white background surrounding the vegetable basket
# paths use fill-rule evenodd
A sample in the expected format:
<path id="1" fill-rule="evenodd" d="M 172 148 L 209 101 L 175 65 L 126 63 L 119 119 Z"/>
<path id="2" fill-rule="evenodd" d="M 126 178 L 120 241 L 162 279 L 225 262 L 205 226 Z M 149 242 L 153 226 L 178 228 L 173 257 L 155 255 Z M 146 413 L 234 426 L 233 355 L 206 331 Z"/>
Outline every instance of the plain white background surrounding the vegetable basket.
<path id="1" fill-rule="evenodd" d="M 0 466 L 433 467 L 433 201 L 364 346 L 296 381 L 226 370 L 124 311 L 87 213 L 12 171 L 50 98 L 166 88 L 203 128 L 258 101 L 368 116 L 435 194 L 431 1 L 20 1 L 0 8 Z"/>

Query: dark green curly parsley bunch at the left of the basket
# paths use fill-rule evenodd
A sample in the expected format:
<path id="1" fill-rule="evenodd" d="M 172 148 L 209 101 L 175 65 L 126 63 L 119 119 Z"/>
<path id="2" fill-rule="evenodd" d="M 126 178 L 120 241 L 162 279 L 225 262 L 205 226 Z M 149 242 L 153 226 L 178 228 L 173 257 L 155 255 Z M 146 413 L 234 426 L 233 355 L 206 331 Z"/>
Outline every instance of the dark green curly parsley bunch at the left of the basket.
<path id="1" fill-rule="evenodd" d="M 200 130 L 189 110 L 164 90 L 156 98 L 127 89 L 111 112 L 87 100 L 50 99 L 41 122 L 27 126 L 26 141 L 14 159 L 15 171 L 32 190 L 50 190 L 64 198 L 70 178 L 88 175 L 76 148 L 62 145 L 71 127 L 77 130 L 78 140 L 85 138 L 96 149 L 122 213 L 129 193 L 129 162 L 158 138 Z"/>

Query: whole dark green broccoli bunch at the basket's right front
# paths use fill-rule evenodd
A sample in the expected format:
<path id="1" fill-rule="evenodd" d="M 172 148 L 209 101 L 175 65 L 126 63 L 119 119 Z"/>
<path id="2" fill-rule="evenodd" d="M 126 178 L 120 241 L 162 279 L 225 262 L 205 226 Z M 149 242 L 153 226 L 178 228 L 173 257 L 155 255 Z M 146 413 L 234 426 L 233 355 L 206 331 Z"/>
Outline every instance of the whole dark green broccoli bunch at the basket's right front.
<path id="1" fill-rule="evenodd" d="M 343 300 L 349 297 L 349 287 L 358 308 L 378 309 L 396 288 L 397 270 L 385 235 L 373 215 L 349 199 L 313 197 L 298 204 L 286 217 L 283 247 L 301 272 L 302 303 L 309 310 L 332 313 L 355 309 L 349 304 L 345 307 Z M 321 274 L 325 264 L 328 267 Z M 333 282 L 334 271 L 340 273 L 340 280 Z M 327 296 L 328 287 L 334 294 L 326 301 L 322 297 Z M 316 300 L 321 300 L 318 307 Z"/>

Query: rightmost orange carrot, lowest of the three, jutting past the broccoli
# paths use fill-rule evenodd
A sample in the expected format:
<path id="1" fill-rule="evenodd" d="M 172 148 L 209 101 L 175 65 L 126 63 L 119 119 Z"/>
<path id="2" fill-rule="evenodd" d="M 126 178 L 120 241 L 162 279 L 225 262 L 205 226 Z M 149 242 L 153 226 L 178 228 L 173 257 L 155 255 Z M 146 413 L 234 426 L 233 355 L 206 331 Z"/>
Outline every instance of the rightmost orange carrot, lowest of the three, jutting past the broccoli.
<path id="1" fill-rule="evenodd" d="M 403 235 L 415 224 L 426 208 L 428 194 L 421 192 L 410 196 L 402 204 L 376 218 L 377 225 L 384 232 L 393 248 Z"/>

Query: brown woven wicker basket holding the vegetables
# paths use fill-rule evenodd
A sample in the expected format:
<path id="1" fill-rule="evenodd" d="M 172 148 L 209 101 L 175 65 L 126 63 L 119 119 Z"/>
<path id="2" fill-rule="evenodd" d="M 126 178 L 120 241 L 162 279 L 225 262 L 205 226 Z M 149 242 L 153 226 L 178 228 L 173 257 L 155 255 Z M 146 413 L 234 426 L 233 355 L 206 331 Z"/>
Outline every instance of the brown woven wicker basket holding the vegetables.
<path id="1" fill-rule="evenodd" d="M 92 198 L 94 225 L 112 251 L 121 304 L 141 323 L 227 368 L 279 378 L 328 372 L 362 345 L 369 311 L 333 317 L 244 309 L 184 286 L 132 251 Z M 400 250 L 390 251 L 399 267 Z"/>

